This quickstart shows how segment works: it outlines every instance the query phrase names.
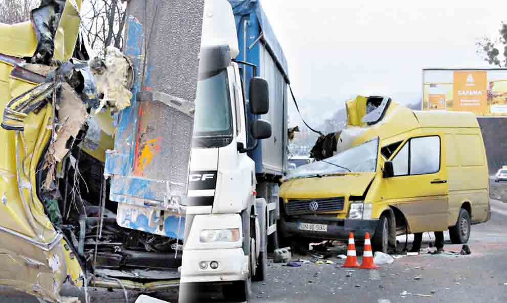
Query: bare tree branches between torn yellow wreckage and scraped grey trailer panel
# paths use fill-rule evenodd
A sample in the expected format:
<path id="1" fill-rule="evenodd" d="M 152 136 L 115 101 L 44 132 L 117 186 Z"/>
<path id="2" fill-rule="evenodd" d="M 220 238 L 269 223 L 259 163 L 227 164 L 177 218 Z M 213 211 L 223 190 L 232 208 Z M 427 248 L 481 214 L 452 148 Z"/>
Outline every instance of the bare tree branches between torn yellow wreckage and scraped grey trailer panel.
<path id="1" fill-rule="evenodd" d="M 83 30 L 92 49 L 100 52 L 113 45 L 121 50 L 125 4 L 120 0 L 86 0 L 86 2 Z"/>

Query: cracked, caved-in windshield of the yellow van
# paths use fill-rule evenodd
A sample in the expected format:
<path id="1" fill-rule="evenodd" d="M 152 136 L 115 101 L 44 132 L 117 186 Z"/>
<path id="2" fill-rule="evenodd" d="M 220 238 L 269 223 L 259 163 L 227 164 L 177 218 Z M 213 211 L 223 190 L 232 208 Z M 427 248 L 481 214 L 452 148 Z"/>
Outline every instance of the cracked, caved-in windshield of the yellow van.
<path id="1" fill-rule="evenodd" d="M 374 172 L 377 168 L 379 139 L 347 149 L 333 157 L 303 165 L 290 171 L 285 180 L 324 176 L 342 172 Z"/>

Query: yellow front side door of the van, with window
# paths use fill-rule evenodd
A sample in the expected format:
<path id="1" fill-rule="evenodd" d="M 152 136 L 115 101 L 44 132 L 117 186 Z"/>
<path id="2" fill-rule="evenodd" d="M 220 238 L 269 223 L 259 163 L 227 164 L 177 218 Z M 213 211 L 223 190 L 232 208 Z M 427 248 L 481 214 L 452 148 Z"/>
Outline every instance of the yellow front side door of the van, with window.
<path id="1" fill-rule="evenodd" d="M 410 232 L 446 230 L 449 218 L 445 141 L 439 133 L 407 139 L 390 160 L 382 197 L 398 207 Z"/>

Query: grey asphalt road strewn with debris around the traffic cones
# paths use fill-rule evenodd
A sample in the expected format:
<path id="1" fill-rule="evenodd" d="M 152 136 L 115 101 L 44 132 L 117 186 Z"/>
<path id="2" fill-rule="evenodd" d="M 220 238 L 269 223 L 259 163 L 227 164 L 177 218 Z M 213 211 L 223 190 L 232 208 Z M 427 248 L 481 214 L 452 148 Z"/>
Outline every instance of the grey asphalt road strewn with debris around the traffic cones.
<path id="1" fill-rule="evenodd" d="M 343 260 L 332 258 L 333 265 L 305 264 L 302 267 L 286 267 L 269 260 L 268 277 L 263 283 L 253 284 L 250 302 L 338 302 L 396 303 L 396 302 L 507 302 L 507 237 L 504 222 L 507 221 L 507 204 L 492 201 L 491 220 L 472 226 L 470 255 L 431 255 L 395 259 L 380 270 L 347 271 L 339 266 Z M 431 237 L 433 235 L 431 234 Z M 461 245 L 449 242 L 446 233 L 447 252 L 460 251 Z M 398 238 L 402 250 L 405 237 Z M 409 236 L 409 242 L 412 237 Z M 423 238 L 423 251 L 431 239 Z M 410 244 L 409 244 L 410 247 Z M 345 247 L 336 248 L 336 254 L 346 253 Z M 432 249 L 430 249 L 432 250 Z M 359 252 L 361 253 L 361 252 Z M 295 256 L 295 259 L 299 256 Z M 301 257 L 309 260 L 309 257 Z M 203 289 L 202 302 L 224 302 L 220 292 Z M 75 290 L 65 290 L 77 295 Z M 405 294 L 405 295 L 402 295 Z M 131 302 L 138 294 L 129 293 Z M 175 293 L 158 294 L 161 299 L 176 302 Z M 96 290 L 93 302 L 124 302 L 122 292 Z M 0 303 L 36 303 L 37 300 L 9 289 L 0 289 Z"/>

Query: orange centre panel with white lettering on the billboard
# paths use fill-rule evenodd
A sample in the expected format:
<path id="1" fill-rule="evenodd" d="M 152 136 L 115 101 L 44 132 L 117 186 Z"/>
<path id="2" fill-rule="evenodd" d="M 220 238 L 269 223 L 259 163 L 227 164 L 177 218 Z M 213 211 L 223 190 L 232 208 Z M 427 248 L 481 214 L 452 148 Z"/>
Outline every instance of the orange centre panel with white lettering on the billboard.
<path id="1" fill-rule="evenodd" d="M 455 71 L 452 82 L 453 110 L 487 113 L 488 75 L 485 71 Z"/>

